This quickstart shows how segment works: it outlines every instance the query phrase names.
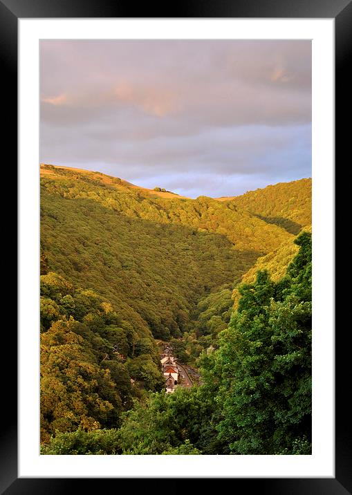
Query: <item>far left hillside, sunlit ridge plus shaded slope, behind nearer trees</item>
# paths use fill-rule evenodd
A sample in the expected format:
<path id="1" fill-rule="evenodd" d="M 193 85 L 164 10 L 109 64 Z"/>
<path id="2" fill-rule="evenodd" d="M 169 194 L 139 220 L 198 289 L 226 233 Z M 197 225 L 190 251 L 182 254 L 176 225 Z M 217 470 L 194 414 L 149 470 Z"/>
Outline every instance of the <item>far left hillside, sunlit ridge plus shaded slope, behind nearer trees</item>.
<path id="1" fill-rule="evenodd" d="M 42 167 L 44 170 L 46 167 Z M 167 339 L 192 328 L 198 301 L 234 283 L 290 238 L 234 205 L 146 198 L 104 176 L 49 167 L 41 178 L 46 270 L 109 299 L 136 329 Z"/>

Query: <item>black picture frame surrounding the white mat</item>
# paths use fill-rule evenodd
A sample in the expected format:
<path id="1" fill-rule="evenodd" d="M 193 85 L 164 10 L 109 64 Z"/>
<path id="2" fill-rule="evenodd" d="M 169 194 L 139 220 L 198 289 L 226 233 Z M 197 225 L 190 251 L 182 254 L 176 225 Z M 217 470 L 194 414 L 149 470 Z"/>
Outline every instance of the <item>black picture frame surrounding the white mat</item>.
<path id="1" fill-rule="evenodd" d="M 136 12 L 138 15 L 136 16 Z M 349 125 L 342 121 L 349 114 L 351 77 L 348 69 L 351 58 L 352 0 L 183 0 L 167 8 L 160 4 L 111 0 L 0 0 L 0 62 L 2 94 L 6 95 L 6 127 L 3 142 L 10 150 L 12 163 L 17 157 L 17 26 L 24 18 L 53 17 L 237 17 L 237 18 L 330 18 L 335 19 L 335 156 L 349 156 L 347 133 Z M 14 167 L 14 165 L 13 165 Z M 15 169 L 15 167 L 14 167 Z M 16 179 L 15 179 L 16 180 Z M 345 184 L 346 187 L 346 184 Z M 347 193 L 346 193 L 347 194 Z M 342 191 L 342 196 L 344 192 Z M 339 198 L 341 197 L 341 193 Z M 19 198 L 20 200 L 20 198 Z M 336 205 L 338 201 L 336 200 Z M 337 226 L 337 222 L 335 223 Z M 15 236 L 16 237 L 16 236 Z M 21 241 L 19 239 L 19 241 Z M 343 256 L 341 256 L 343 258 Z M 338 265 L 337 267 L 338 268 Z M 338 271 L 338 270 L 337 270 Z M 340 303 L 342 307 L 343 301 Z M 335 314 L 337 315 L 335 308 Z M 17 348 L 17 335 L 8 329 L 6 348 Z M 341 326 L 335 335 L 335 478 L 231 478 L 233 491 L 241 488 L 263 494 L 333 494 L 352 493 L 351 415 L 345 400 L 351 396 L 349 376 L 349 346 L 345 345 L 348 328 Z M 15 353 L 13 353 L 15 355 Z M 82 483 L 90 489 L 102 490 L 102 483 L 113 482 L 121 488 L 122 480 L 109 478 L 18 478 L 17 477 L 17 375 L 12 363 L 11 373 L 3 371 L 3 422 L 0 444 L 0 492 L 18 494 L 61 494 L 82 490 Z M 6 378 L 5 378 L 6 373 Z M 349 394 L 350 390 L 350 394 Z M 229 476 L 230 477 L 230 476 Z M 175 493 L 185 489 L 183 479 L 165 480 L 160 487 Z M 191 480 L 187 480 L 191 481 Z M 192 480 L 198 482 L 199 480 Z M 215 483 L 219 489 L 222 480 L 207 479 L 207 487 Z M 130 483 L 131 480 L 128 480 Z M 154 482 L 149 483 L 149 482 Z M 118 484 L 117 484 L 118 483 Z M 153 479 L 133 479 L 134 489 L 156 488 Z M 192 487 L 193 483 L 189 485 Z"/>

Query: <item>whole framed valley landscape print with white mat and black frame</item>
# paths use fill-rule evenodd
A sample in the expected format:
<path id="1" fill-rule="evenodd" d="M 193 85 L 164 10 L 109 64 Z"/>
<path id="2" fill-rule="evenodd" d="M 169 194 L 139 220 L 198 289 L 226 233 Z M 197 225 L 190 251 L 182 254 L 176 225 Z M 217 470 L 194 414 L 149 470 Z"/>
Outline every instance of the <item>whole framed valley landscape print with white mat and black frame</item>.
<path id="1" fill-rule="evenodd" d="M 10 344 L 18 346 L 18 415 L 13 407 L 17 383 L 10 375 L 0 488 L 6 494 L 61 493 L 85 478 L 89 483 L 92 478 L 133 478 L 134 483 L 169 478 L 176 489 L 182 478 L 233 478 L 237 489 L 244 484 L 264 493 L 351 493 L 351 442 L 342 407 L 348 359 L 338 334 L 335 342 L 334 307 L 335 146 L 340 153 L 346 146 L 346 129 L 338 120 L 334 136 L 335 92 L 338 117 L 347 99 L 351 3 L 293 6 L 253 0 L 246 6 L 178 6 L 172 15 L 150 6 L 145 10 L 136 16 L 131 7 L 104 1 L 0 1 L 4 94 L 19 105 L 18 122 L 13 106 L 8 111 L 5 136 L 18 149 L 19 332 L 18 342 Z M 284 192 L 261 193 L 275 184 Z M 310 219 L 301 196 L 311 187 Z M 261 194 L 270 208 L 257 208 Z M 280 213 L 273 205 L 275 194 L 283 196 Z M 295 201 L 295 215 L 281 215 Z M 202 216 L 206 220 L 198 221 Z M 239 227 L 232 234 L 240 221 L 243 232 Z M 112 245 L 117 231 L 119 243 Z M 310 423 L 303 411 L 311 407 L 304 402 L 309 392 L 302 391 L 309 377 L 302 374 L 305 358 L 297 357 L 308 345 L 299 347 L 299 342 L 308 340 L 299 337 L 297 315 L 306 321 L 311 301 L 302 295 L 306 286 L 297 270 L 308 256 L 302 254 L 308 241 L 301 237 L 299 244 L 299 234 L 308 239 L 311 232 Z M 302 248 L 297 252 L 291 247 L 296 237 Z M 289 275 L 288 261 L 281 270 L 282 258 L 292 254 L 292 266 L 293 252 L 301 258 Z M 274 270 L 263 285 L 254 269 L 266 270 L 266 263 L 275 265 L 277 278 Z M 117 292 L 112 280 L 122 273 Z M 237 285 L 231 286 L 230 279 L 238 279 Z M 237 290 L 240 281 L 254 285 Z M 286 392 L 282 386 L 279 395 L 269 394 L 272 402 L 286 393 L 295 403 L 291 409 L 282 405 L 280 410 L 281 402 L 277 411 L 272 409 L 275 424 L 290 423 L 290 428 L 274 433 L 267 428 L 261 436 L 256 436 L 259 429 L 248 433 L 247 428 L 245 438 L 241 431 L 246 428 L 239 428 L 246 424 L 240 419 L 240 399 L 229 405 L 221 394 L 234 387 L 231 373 L 243 380 L 242 392 L 248 376 L 236 366 L 229 372 L 229 366 L 241 352 L 252 353 L 252 363 L 268 361 L 264 351 L 257 351 L 263 342 L 257 340 L 252 351 L 248 344 L 240 348 L 240 341 L 232 346 L 226 328 L 237 331 L 231 314 L 240 297 L 247 315 L 240 325 L 249 325 L 250 294 L 260 283 L 260 290 L 271 291 L 267 306 L 263 302 L 266 308 L 270 303 L 268 318 L 283 326 L 285 338 L 296 339 L 290 348 L 281 334 L 272 334 L 270 353 L 274 348 L 282 356 L 274 353 L 276 367 L 265 376 L 270 382 L 270 376 L 282 373 L 278 366 L 294 367 L 296 386 L 302 382 L 298 395 L 287 391 L 288 382 Z M 258 312 L 247 336 L 259 328 L 261 303 L 256 301 Z M 283 344 L 277 344 L 280 339 Z M 89 348 L 81 354 L 82 342 Z M 53 369 L 65 359 L 70 371 L 58 380 Z M 292 359 L 297 359 L 294 366 L 288 362 Z M 161 371 L 156 370 L 159 361 Z M 219 366 L 221 378 L 216 377 Z M 43 370 L 46 389 L 39 409 Z M 258 378 L 253 385 L 258 391 L 264 374 L 252 376 Z M 214 389 L 212 380 L 218 378 L 223 381 Z M 203 395 L 189 399 L 192 384 L 205 387 Z M 180 391 L 185 391 L 183 398 Z M 160 438 L 147 445 L 151 423 L 143 431 L 143 420 L 152 419 L 149 411 L 158 415 L 167 407 L 163 402 L 158 409 L 164 395 L 169 404 L 172 397 L 183 400 L 181 407 L 175 399 L 169 414 L 182 415 L 188 401 L 189 410 L 206 415 L 210 406 L 205 401 L 212 394 L 222 409 L 212 410 L 212 418 L 219 418 L 214 431 L 205 427 L 210 424 L 206 418 L 200 423 L 197 434 L 203 440 L 197 442 L 196 433 L 183 433 L 187 428 L 182 427 L 176 442 L 160 440 L 156 426 Z M 53 400 L 60 402 L 59 412 Z M 252 404 L 250 392 L 246 400 Z M 149 411 L 133 405 L 138 401 L 149 404 Z M 120 411 L 116 418 L 115 411 Z M 273 420 L 261 420 L 265 407 L 255 414 L 258 424 Z M 295 414 L 301 419 L 290 422 Z M 302 421 L 306 429 L 292 427 Z M 130 443 L 118 440 L 114 422 Z M 65 436 L 70 432 L 80 436 L 79 445 L 99 438 L 100 447 L 78 448 L 72 435 Z"/>

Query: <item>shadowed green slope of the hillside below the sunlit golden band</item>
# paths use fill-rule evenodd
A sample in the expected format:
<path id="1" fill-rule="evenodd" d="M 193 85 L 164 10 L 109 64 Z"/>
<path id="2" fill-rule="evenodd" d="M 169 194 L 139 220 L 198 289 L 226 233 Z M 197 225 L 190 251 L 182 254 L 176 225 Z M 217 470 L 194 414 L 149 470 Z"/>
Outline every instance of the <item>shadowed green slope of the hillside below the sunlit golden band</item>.
<path id="1" fill-rule="evenodd" d="M 225 236 L 129 218 L 91 199 L 44 189 L 41 203 L 47 209 L 41 245 L 50 270 L 100 293 L 140 337 L 182 335 L 192 328 L 198 299 L 232 283 L 256 256 L 237 252 Z"/>

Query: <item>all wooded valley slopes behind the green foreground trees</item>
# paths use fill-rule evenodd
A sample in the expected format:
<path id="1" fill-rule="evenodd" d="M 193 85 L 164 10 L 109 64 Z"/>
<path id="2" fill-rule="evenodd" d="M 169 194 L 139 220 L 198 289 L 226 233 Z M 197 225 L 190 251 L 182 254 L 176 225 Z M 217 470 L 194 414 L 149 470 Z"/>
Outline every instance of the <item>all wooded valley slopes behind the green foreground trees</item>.
<path id="1" fill-rule="evenodd" d="M 190 199 L 41 165 L 43 439 L 80 424 L 111 427 L 133 398 L 159 390 L 154 339 L 173 339 L 194 362 L 228 325 L 234 287 L 277 259 L 281 273 L 295 256 L 310 187 L 303 179 L 231 200 Z M 71 406 L 80 393 L 72 380 L 89 390 L 81 409 Z M 57 394 L 64 409 L 55 409 Z"/>

